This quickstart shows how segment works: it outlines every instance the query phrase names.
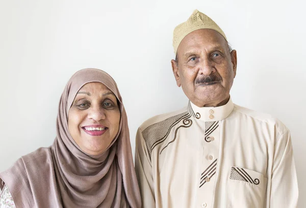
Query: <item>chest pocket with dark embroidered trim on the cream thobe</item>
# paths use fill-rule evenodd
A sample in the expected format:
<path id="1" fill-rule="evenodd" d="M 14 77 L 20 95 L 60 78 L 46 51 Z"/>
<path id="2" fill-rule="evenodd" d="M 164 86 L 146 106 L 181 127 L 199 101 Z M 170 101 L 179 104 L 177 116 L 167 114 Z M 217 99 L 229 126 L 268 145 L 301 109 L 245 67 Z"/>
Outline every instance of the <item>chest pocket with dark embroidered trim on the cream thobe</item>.
<path id="1" fill-rule="evenodd" d="M 231 168 L 227 180 L 227 208 L 264 207 L 267 179 L 263 174 L 246 168 Z"/>

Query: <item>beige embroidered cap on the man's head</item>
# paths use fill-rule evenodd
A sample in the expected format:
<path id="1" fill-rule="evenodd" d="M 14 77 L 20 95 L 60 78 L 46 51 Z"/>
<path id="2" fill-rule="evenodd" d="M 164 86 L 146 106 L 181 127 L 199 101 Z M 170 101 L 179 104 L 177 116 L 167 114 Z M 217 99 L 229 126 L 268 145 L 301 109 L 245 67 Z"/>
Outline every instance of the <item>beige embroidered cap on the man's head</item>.
<path id="1" fill-rule="evenodd" d="M 177 48 L 179 47 L 181 41 L 185 38 L 185 36 L 187 36 L 193 31 L 196 31 L 197 29 L 214 29 L 214 31 L 220 33 L 227 41 L 222 29 L 216 24 L 216 22 L 214 22 L 214 20 L 212 20 L 206 14 L 203 14 L 198 10 L 194 10 L 192 15 L 188 18 L 186 22 L 183 22 L 174 28 L 173 48 L 175 54 Z"/>

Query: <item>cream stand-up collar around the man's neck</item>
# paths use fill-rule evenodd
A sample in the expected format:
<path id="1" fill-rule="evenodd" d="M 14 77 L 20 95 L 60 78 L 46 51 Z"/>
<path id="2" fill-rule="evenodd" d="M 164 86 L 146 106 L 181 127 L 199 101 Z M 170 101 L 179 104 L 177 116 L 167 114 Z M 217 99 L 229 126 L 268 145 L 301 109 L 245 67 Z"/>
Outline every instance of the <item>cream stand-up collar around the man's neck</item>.
<path id="1" fill-rule="evenodd" d="M 215 122 L 225 119 L 234 109 L 232 99 L 225 105 L 218 107 L 198 107 L 191 101 L 188 103 L 188 110 L 191 116 L 205 122 Z"/>

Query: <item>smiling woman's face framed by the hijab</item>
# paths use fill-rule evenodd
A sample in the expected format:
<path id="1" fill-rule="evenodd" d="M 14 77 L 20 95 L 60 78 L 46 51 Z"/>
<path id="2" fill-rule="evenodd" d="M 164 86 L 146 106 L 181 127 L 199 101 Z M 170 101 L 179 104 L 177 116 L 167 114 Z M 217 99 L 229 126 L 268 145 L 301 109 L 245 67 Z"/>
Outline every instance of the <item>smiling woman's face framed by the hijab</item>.
<path id="1" fill-rule="evenodd" d="M 117 98 L 100 82 L 85 84 L 68 112 L 68 128 L 81 150 L 89 155 L 106 151 L 118 133 L 120 110 Z"/>

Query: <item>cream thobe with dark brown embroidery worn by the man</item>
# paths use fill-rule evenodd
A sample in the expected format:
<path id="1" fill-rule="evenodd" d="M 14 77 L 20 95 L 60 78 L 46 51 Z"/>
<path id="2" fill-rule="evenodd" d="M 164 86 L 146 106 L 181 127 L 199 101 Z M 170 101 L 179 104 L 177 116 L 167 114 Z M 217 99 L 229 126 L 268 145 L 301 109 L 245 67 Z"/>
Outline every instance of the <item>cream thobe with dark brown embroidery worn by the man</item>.
<path id="1" fill-rule="evenodd" d="M 289 130 L 231 99 L 144 122 L 135 166 L 144 208 L 297 206 Z"/>

